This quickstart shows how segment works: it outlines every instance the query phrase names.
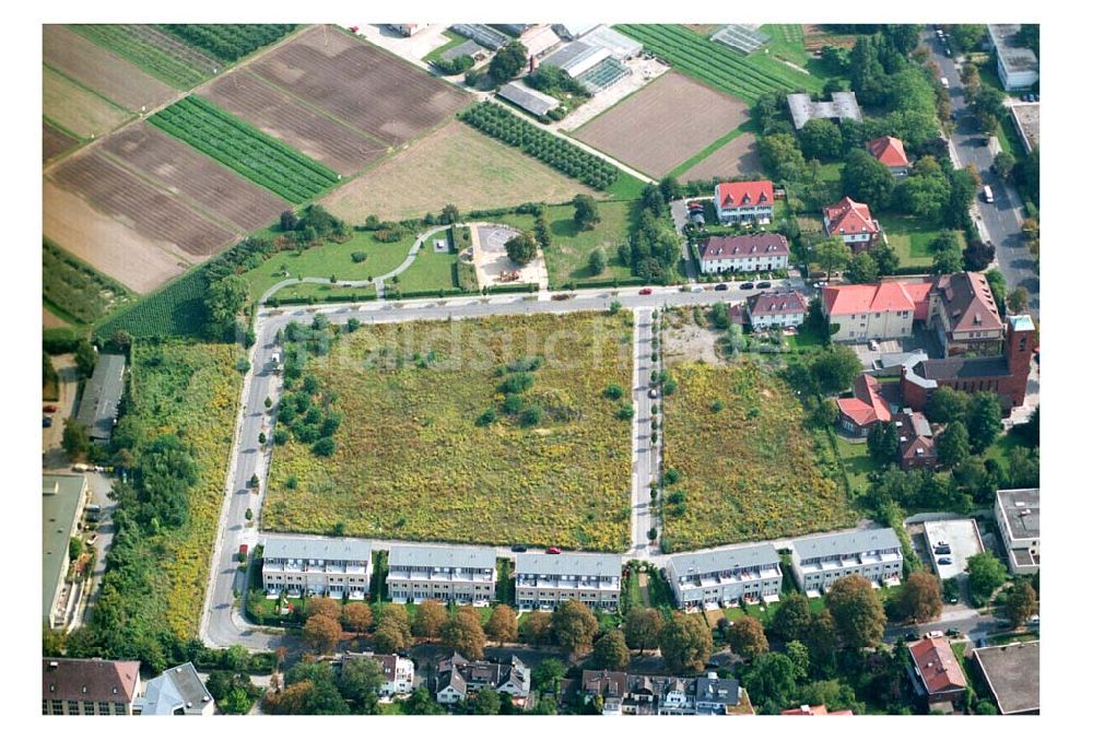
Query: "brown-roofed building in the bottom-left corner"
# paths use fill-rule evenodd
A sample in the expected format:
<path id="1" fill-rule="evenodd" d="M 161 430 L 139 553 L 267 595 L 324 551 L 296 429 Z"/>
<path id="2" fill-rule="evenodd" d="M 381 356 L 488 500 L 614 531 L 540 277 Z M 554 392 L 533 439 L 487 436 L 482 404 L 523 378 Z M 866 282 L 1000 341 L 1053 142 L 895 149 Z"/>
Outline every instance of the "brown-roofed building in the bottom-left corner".
<path id="1" fill-rule="evenodd" d="M 42 659 L 44 715 L 131 715 L 140 690 L 136 660 Z"/>

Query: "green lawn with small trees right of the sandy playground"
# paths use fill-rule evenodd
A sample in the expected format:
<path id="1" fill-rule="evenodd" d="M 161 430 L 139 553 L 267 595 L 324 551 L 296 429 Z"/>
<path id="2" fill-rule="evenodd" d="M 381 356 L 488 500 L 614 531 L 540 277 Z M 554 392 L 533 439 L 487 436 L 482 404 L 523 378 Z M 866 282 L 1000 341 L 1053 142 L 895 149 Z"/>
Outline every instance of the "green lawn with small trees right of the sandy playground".
<path id="1" fill-rule="evenodd" d="M 546 209 L 546 223 L 552 237 L 551 246 L 543 249 L 550 286 L 556 289 L 568 282 L 586 280 L 625 280 L 632 278 L 630 266 L 619 261 L 618 247 L 630 239 L 632 219 L 636 209 L 631 201 L 606 201 L 598 204 L 600 222 L 588 231 L 577 231 L 573 221 L 573 205 L 551 205 Z M 501 216 L 498 222 L 530 231 L 534 219 L 530 215 Z M 600 274 L 588 269 L 588 258 L 596 248 L 603 250 L 607 267 Z"/>

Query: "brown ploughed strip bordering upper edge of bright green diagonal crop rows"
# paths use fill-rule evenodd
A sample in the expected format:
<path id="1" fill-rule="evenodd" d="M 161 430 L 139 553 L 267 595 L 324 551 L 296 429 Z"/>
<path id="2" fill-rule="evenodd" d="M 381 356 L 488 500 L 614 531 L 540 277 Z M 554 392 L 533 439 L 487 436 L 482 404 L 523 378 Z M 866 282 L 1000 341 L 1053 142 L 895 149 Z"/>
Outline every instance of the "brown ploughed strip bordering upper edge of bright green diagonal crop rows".
<path id="1" fill-rule="evenodd" d="M 387 144 L 316 113 L 246 69 L 228 72 L 197 92 L 343 176 L 389 151 Z"/>

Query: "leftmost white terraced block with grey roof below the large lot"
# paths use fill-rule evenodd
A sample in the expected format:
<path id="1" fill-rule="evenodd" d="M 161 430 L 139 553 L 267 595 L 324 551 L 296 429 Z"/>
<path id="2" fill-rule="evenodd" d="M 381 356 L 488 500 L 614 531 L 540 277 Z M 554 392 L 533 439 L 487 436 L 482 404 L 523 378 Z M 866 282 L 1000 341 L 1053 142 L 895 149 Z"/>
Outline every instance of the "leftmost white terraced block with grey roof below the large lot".
<path id="1" fill-rule="evenodd" d="M 270 535 L 262 550 L 262 588 L 270 596 L 364 599 L 371 562 L 367 540 Z"/>

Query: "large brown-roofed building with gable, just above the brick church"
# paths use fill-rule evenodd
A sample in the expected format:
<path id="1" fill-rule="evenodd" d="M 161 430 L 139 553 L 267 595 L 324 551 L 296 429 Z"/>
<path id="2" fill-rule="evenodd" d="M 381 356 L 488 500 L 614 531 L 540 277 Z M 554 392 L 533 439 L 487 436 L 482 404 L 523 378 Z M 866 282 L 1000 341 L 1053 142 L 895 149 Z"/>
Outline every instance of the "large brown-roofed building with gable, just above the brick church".
<path id="1" fill-rule="evenodd" d="M 1006 336 L 994 293 L 982 272 L 938 275 L 929 294 L 929 322 L 944 356 L 964 352 L 997 355 Z"/>

